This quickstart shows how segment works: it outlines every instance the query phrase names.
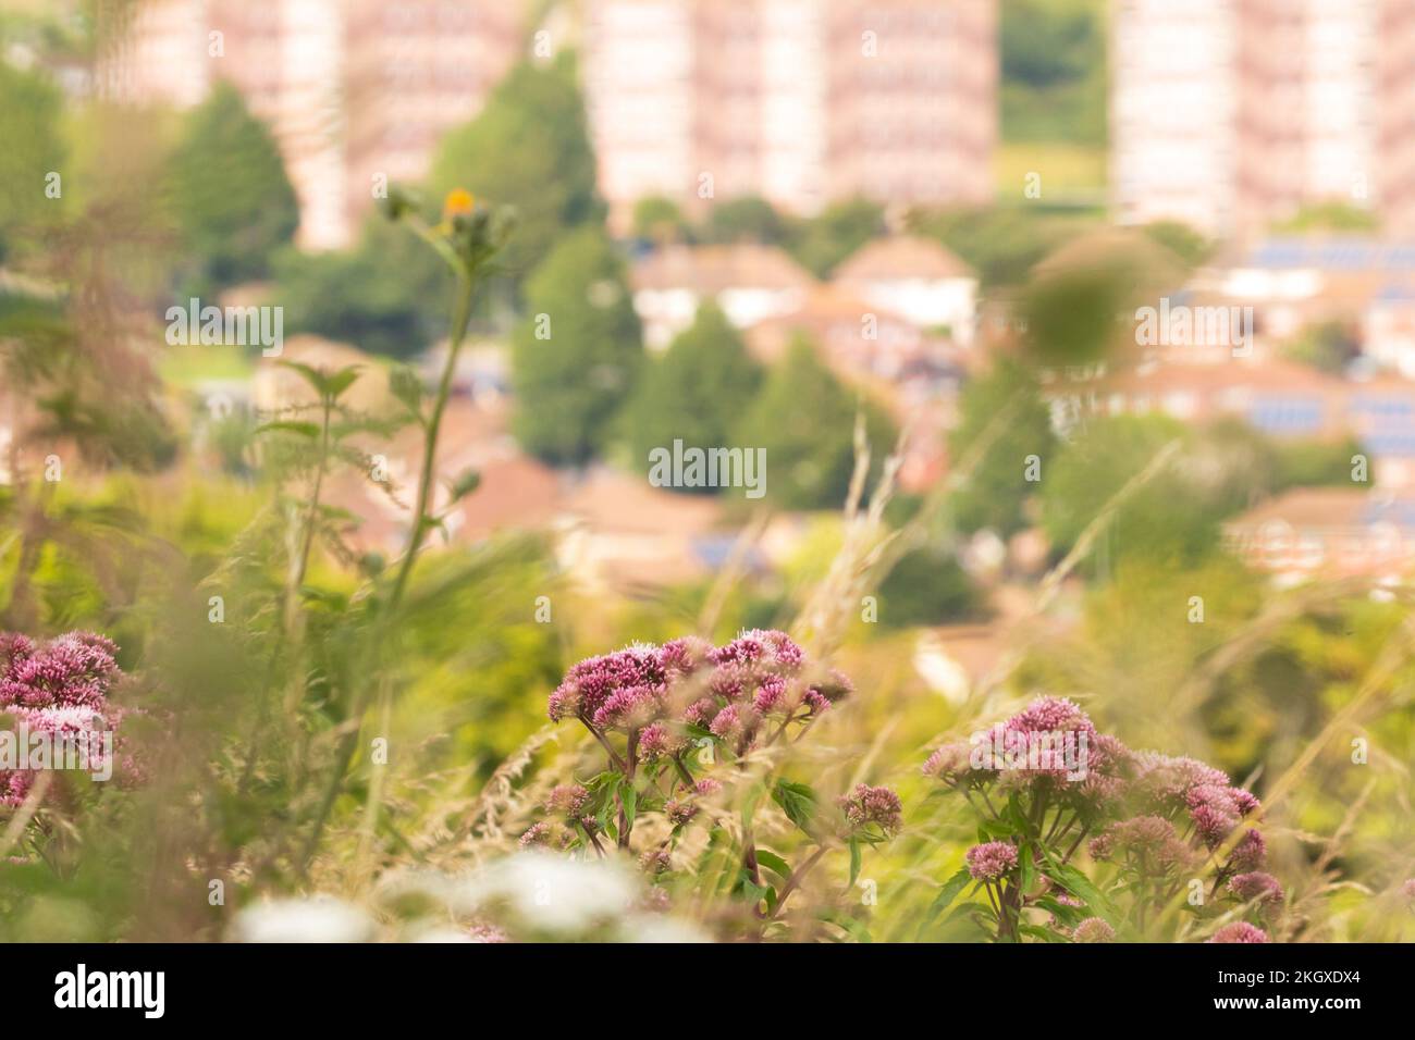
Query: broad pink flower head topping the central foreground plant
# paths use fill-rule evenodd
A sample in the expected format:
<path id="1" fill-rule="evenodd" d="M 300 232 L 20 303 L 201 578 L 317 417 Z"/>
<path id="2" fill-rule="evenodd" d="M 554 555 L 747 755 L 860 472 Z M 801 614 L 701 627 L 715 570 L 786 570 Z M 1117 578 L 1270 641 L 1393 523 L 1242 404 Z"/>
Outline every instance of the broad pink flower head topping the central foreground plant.
<path id="1" fill-rule="evenodd" d="M 654 761 L 706 730 L 737 754 L 766 733 L 819 715 L 849 693 L 839 674 L 818 675 L 785 632 L 753 630 L 723 647 L 685 637 L 580 661 L 549 700 L 550 719 L 579 719 L 597 734 L 625 733 Z"/>

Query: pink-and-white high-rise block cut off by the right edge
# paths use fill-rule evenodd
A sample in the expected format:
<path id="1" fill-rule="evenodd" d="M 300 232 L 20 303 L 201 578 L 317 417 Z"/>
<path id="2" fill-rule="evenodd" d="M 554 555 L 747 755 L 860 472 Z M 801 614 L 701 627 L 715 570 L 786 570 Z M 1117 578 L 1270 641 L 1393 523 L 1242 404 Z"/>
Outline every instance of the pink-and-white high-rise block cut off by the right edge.
<path id="1" fill-rule="evenodd" d="M 1415 231 L 1415 0 L 1116 0 L 1111 85 L 1125 222 L 1341 202 Z"/>

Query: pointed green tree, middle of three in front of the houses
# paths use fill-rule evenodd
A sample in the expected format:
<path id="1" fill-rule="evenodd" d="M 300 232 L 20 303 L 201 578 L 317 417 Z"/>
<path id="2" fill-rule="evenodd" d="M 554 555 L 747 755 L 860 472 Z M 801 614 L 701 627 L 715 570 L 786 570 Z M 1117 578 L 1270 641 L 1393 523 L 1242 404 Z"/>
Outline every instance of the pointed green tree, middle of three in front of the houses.
<path id="1" fill-rule="evenodd" d="M 705 303 L 640 379 L 627 413 L 635 461 L 647 464 L 652 449 L 669 447 L 675 439 L 685 447 L 730 447 L 760 383 L 761 368 L 737 330 L 717 304 Z"/>

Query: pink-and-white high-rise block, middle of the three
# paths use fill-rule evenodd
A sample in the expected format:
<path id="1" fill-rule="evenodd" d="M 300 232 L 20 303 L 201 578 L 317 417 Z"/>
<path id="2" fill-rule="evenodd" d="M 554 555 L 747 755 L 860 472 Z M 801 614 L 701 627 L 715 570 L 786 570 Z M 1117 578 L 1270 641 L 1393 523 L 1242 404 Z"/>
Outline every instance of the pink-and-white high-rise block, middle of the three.
<path id="1" fill-rule="evenodd" d="M 795 212 L 983 202 L 996 0 L 586 0 L 600 190 Z"/>

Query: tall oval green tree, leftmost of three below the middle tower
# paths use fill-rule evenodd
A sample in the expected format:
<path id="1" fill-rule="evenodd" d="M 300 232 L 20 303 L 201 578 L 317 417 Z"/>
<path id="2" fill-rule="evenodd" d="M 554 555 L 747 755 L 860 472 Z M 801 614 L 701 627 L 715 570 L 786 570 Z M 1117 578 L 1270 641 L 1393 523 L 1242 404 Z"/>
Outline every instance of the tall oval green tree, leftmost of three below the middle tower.
<path id="1" fill-rule="evenodd" d="M 526 283 L 512 335 L 521 446 L 549 463 L 589 461 L 644 361 L 624 263 L 596 226 L 565 236 Z"/>

